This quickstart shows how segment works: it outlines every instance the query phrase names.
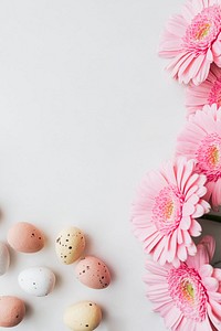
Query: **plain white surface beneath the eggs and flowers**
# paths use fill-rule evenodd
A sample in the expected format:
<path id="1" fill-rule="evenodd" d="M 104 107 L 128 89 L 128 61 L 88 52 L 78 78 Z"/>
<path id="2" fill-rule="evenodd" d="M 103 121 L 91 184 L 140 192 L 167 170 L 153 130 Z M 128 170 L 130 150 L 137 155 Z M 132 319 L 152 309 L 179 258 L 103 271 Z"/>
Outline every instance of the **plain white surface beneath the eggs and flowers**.
<path id="1" fill-rule="evenodd" d="M 97 331 L 165 330 L 145 297 L 145 256 L 130 224 L 144 174 L 173 153 L 186 120 L 185 90 L 157 55 L 176 0 L 0 1 L 0 239 L 27 221 L 46 236 L 32 255 L 12 250 L 1 295 L 27 302 L 22 331 L 63 331 L 78 300 L 101 305 Z M 85 254 L 101 257 L 113 281 L 80 284 L 55 256 L 63 227 L 81 227 Z M 48 266 L 57 276 L 46 298 L 25 295 L 20 270 Z"/>

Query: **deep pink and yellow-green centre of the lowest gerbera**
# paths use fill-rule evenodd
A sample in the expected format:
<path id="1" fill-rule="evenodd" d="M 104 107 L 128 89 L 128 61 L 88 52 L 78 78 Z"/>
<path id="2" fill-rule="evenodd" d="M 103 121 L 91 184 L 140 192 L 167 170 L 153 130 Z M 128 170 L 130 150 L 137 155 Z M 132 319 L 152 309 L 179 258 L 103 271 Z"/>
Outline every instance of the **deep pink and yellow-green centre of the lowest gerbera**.
<path id="1" fill-rule="evenodd" d="M 169 270 L 167 281 L 170 297 L 185 317 L 203 321 L 208 293 L 198 271 L 183 263 L 179 268 Z"/>

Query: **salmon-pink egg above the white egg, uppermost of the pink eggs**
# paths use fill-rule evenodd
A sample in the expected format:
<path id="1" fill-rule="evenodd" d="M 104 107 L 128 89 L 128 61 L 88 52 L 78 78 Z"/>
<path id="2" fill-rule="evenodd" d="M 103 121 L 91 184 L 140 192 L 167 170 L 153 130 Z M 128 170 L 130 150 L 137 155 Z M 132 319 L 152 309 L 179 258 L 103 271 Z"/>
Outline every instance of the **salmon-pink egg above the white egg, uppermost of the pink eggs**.
<path id="1" fill-rule="evenodd" d="M 43 248 L 44 236 L 33 224 L 19 222 L 9 229 L 8 243 L 17 252 L 35 253 Z"/>

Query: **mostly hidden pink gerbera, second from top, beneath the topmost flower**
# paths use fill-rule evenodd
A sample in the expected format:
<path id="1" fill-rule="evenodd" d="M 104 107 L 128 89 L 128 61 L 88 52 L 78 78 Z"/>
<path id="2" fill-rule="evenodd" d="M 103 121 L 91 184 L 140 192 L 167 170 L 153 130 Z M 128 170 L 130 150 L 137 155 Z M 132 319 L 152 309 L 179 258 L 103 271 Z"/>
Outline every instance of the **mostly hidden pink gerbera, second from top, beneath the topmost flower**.
<path id="1" fill-rule="evenodd" d="M 215 64 L 211 65 L 210 73 L 201 85 L 191 84 L 187 88 L 186 106 L 189 115 L 201 110 L 204 105 L 212 104 L 221 106 L 221 68 Z"/>

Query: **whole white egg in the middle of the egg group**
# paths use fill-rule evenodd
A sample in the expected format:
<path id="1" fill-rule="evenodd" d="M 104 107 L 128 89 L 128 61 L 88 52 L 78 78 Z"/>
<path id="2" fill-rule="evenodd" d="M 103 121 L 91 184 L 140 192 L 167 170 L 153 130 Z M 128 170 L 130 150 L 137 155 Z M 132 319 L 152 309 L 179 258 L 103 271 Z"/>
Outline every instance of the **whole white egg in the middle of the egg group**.
<path id="1" fill-rule="evenodd" d="M 54 288 L 55 276 L 45 267 L 32 267 L 24 269 L 18 277 L 20 287 L 29 295 L 45 297 Z"/>

